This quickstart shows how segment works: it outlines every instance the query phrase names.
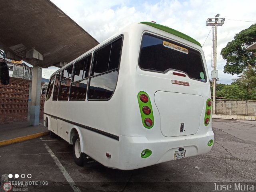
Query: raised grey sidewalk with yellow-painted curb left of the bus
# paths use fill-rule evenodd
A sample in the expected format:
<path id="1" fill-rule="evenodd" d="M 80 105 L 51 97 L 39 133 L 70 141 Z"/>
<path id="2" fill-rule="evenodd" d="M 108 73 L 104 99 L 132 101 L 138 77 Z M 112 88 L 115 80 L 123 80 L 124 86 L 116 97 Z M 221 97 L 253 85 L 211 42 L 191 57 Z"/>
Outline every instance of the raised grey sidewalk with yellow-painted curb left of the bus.
<path id="1" fill-rule="evenodd" d="M 49 134 L 40 120 L 39 126 L 30 126 L 29 122 L 10 122 L 0 124 L 0 146 L 12 144 Z"/>

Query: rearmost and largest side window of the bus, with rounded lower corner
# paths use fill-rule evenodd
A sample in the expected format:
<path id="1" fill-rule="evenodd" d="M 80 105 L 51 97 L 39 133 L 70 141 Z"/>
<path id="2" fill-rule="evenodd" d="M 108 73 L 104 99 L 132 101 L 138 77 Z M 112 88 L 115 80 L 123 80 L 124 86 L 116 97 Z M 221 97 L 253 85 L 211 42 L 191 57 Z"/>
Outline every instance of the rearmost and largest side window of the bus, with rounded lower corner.
<path id="1" fill-rule="evenodd" d="M 108 100 L 116 88 L 122 38 L 94 53 L 88 100 Z"/>

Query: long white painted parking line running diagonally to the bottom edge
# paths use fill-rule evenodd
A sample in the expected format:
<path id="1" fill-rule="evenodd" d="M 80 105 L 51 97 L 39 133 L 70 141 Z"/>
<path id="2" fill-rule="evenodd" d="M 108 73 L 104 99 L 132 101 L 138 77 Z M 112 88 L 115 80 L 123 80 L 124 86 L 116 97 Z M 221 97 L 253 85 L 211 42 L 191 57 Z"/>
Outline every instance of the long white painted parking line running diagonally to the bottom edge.
<path id="1" fill-rule="evenodd" d="M 54 162 L 56 163 L 56 165 L 58 166 L 58 168 L 60 169 L 62 174 L 64 175 L 64 177 L 66 178 L 66 180 L 68 181 L 68 183 L 70 184 L 70 186 L 72 187 L 72 189 L 74 190 L 74 192 L 81 192 L 81 190 L 76 186 L 76 183 L 70 177 L 70 175 L 68 174 L 68 172 L 66 171 L 64 166 L 61 164 L 61 162 L 58 160 L 58 158 L 54 155 L 54 153 L 52 152 L 50 147 L 46 143 L 44 143 L 44 146 L 45 146 L 46 150 L 48 151 L 48 153 L 50 154 L 50 156 L 53 158 Z"/>

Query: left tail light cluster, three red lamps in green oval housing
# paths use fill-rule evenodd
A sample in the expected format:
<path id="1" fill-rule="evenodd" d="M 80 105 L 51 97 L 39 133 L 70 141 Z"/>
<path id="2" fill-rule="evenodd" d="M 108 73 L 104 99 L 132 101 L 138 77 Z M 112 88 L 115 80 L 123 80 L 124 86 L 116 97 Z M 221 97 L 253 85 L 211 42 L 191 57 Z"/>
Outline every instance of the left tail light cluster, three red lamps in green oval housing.
<path id="1" fill-rule="evenodd" d="M 140 107 L 142 124 L 145 128 L 150 129 L 154 126 L 154 116 L 150 98 L 144 91 L 140 91 L 137 97 Z"/>

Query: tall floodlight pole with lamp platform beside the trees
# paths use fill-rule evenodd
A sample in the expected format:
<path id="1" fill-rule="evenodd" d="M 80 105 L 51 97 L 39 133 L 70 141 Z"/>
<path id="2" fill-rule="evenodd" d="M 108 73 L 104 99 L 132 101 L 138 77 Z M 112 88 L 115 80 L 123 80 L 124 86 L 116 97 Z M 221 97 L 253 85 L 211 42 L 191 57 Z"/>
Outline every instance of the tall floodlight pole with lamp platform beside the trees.
<path id="1" fill-rule="evenodd" d="M 220 14 L 216 14 L 215 18 L 208 18 L 206 26 L 212 26 L 212 78 L 213 78 L 213 96 L 212 96 L 212 114 L 215 114 L 216 101 L 216 78 L 218 78 L 218 70 L 216 70 L 216 55 L 217 55 L 217 26 L 224 24 L 225 18 L 218 18 Z"/>

